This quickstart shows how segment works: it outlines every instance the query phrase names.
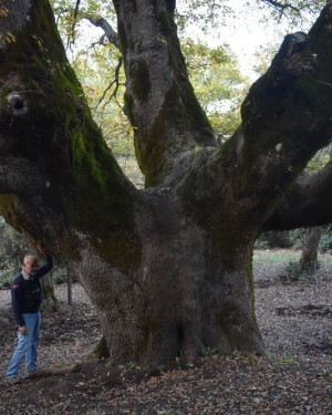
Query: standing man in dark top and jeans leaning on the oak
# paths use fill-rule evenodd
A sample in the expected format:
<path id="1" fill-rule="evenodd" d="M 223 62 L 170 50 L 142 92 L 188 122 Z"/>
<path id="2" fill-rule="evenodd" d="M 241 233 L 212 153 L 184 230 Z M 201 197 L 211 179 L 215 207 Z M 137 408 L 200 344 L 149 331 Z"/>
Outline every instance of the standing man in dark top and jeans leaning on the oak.
<path id="1" fill-rule="evenodd" d="M 41 253 L 44 253 L 40 250 Z M 53 267 L 53 260 L 46 255 L 46 264 L 39 268 L 38 259 L 28 255 L 22 271 L 11 282 L 11 309 L 17 320 L 19 342 L 11 357 L 6 381 L 18 382 L 18 373 L 25 356 L 27 375 L 35 372 L 37 346 L 39 344 L 41 286 L 40 278 Z"/>

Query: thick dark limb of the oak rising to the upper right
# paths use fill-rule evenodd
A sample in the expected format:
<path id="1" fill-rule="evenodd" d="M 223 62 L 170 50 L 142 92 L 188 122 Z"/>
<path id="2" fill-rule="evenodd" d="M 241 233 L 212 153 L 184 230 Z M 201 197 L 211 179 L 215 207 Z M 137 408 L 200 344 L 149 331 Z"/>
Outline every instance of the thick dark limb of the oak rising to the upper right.
<path id="1" fill-rule="evenodd" d="M 332 135 L 332 3 L 308 34 L 287 35 L 242 104 L 241 128 L 217 152 L 201 152 L 179 191 L 220 221 L 252 231 Z M 214 177 L 214 179 L 211 179 Z M 215 206 L 219 206 L 216 212 Z M 234 220 L 229 220 L 229 215 Z M 226 219 L 225 219 L 226 218 Z M 219 225 L 218 225 L 219 226 Z"/>

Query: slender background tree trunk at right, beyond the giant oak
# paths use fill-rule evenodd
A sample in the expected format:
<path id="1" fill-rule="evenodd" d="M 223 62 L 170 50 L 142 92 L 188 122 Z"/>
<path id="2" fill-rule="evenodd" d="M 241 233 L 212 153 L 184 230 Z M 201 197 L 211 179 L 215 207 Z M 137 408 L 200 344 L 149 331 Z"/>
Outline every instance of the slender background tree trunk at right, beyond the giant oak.
<path id="1" fill-rule="evenodd" d="M 300 270 L 305 270 L 312 274 L 317 271 L 318 248 L 322 235 L 322 227 L 308 228 L 300 259 Z"/>

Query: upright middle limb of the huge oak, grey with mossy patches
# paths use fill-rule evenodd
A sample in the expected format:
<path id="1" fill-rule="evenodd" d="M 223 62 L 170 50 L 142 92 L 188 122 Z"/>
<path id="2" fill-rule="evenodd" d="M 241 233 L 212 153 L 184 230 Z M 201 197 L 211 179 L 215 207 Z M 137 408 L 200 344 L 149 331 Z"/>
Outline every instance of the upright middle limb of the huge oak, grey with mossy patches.
<path id="1" fill-rule="evenodd" d="M 195 145 L 215 145 L 215 138 L 188 80 L 174 2 L 124 0 L 114 6 L 127 80 L 126 113 L 146 185 L 155 186 L 180 154 Z"/>

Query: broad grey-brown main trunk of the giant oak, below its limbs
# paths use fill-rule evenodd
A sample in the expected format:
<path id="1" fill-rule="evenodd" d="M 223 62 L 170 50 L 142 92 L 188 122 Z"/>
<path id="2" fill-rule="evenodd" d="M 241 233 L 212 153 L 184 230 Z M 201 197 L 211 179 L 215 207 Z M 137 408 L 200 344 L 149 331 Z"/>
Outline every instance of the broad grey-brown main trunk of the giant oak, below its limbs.
<path id="1" fill-rule="evenodd" d="M 98 310 L 111 359 L 155 366 L 194 359 L 203 346 L 263 354 L 251 247 L 239 240 L 220 250 L 167 193 L 142 200 L 135 224 L 142 252 L 129 279 L 110 274 L 91 246 L 70 264 Z"/>

